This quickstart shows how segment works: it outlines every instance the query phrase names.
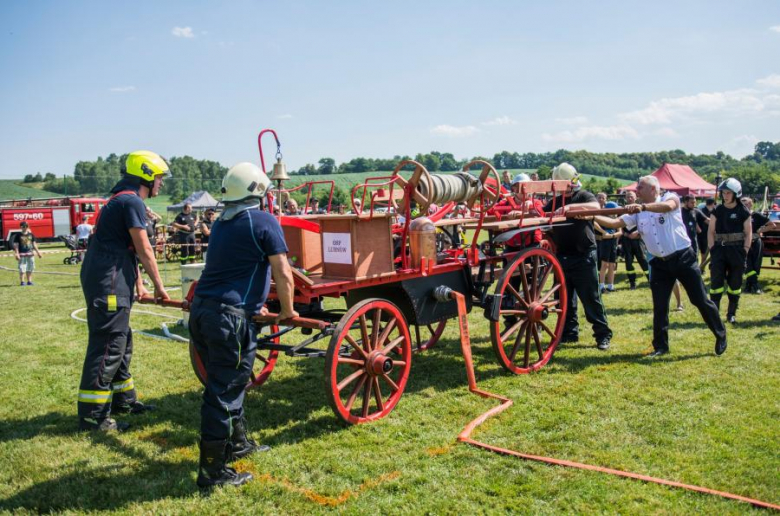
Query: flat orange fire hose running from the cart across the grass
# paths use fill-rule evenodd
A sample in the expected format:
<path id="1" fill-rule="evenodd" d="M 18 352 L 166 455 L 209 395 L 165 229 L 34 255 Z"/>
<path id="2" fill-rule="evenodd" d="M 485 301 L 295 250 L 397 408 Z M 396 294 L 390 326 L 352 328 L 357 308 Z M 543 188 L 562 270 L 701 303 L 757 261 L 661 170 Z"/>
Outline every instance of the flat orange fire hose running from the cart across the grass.
<path id="1" fill-rule="evenodd" d="M 455 292 L 454 290 L 448 287 L 439 287 L 436 290 L 437 292 L 435 295 L 437 297 L 447 296 L 449 299 L 454 299 L 458 305 L 458 324 L 460 326 L 460 346 L 463 351 L 463 359 L 466 361 L 466 375 L 468 376 L 468 381 L 469 381 L 469 391 L 483 398 L 496 399 L 501 402 L 501 404 L 498 405 L 497 407 L 493 407 L 492 409 L 488 410 L 481 416 L 471 421 L 468 425 L 466 425 L 463 428 L 463 430 L 460 432 L 460 434 L 458 434 L 458 441 L 466 444 L 470 444 L 471 446 L 475 446 L 477 448 L 483 448 L 485 450 L 492 451 L 494 453 L 499 453 L 501 455 L 511 455 L 514 457 L 519 457 L 521 459 L 544 462 L 546 464 L 555 464 L 556 466 L 565 466 L 569 468 L 584 469 L 588 471 L 597 471 L 599 473 L 608 473 L 610 475 L 616 475 L 625 478 L 633 478 L 635 480 L 652 482 L 654 484 L 661 484 L 670 487 L 678 487 L 682 489 L 687 489 L 689 491 L 695 491 L 697 493 L 715 495 L 723 498 L 729 498 L 731 500 L 737 500 L 740 502 L 749 503 L 751 505 L 754 505 L 756 507 L 761 507 L 764 509 L 774 509 L 776 511 L 780 511 L 780 505 L 775 505 L 769 502 L 763 502 L 761 500 L 754 500 L 752 498 L 746 498 L 744 496 L 739 496 L 732 493 L 726 493 L 724 491 L 716 491 L 714 489 L 708 489 L 706 487 L 683 484 L 681 482 L 674 482 L 672 480 L 665 480 L 662 478 L 640 475 L 638 473 L 630 473 L 628 471 L 621 471 L 619 469 L 603 468 L 601 466 L 593 466 L 590 464 L 583 464 L 581 462 L 572 462 L 568 460 L 554 459 L 551 457 L 540 457 L 538 455 L 529 455 L 527 453 L 508 450 L 506 448 L 499 448 L 497 446 L 491 446 L 489 444 L 475 441 L 474 439 L 471 438 L 472 432 L 474 432 L 474 430 L 479 425 L 484 423 L 488 418 L 500 414 L 501 412 L 511 407 L 512 400 L 510 400 L 509 398 L 505 398 L 504 396 L 499 396 L 498 394 L 493 394 L 491 392 L 483 391 L 477 388 L 477 381 L 474 376 L 474 364 L 471 360 L 471 338 L 469 337 L 469 323 L 468 323 L 468 312 L 466 310 L 466 298 L 463 296 L 463 294 L 459 292 Z"/>

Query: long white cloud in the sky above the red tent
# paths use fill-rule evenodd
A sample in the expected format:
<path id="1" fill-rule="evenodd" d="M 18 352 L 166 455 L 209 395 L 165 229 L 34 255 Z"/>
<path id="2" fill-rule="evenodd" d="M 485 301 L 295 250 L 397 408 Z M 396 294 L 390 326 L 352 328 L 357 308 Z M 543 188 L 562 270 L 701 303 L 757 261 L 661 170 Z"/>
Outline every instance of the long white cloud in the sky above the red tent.
<path id="1" fill-rule="evenodd" d="M 623 113 L 619 117 L 626 122 L 641 125 L 670 124 L 680 119 L 692 119 L 711 114 L 735 116 L 755 114 L 763 111 L 765 107 L 762 92 L 742 88 L 656 100 L 644 109 Z"/>

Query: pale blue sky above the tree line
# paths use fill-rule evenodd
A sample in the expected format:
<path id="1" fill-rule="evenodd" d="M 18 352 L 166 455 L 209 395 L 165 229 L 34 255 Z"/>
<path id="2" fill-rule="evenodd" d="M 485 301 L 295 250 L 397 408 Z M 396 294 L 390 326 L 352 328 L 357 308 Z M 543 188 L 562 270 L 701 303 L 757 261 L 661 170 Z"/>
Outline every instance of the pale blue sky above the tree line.
<path id="1" fill-rule="evenodd" d="M 266 127 L 292 168 L 780 140 L 774 0 L 8 0 L 0 24 L 0 178 L 139 148 L 257 162 Z"/>

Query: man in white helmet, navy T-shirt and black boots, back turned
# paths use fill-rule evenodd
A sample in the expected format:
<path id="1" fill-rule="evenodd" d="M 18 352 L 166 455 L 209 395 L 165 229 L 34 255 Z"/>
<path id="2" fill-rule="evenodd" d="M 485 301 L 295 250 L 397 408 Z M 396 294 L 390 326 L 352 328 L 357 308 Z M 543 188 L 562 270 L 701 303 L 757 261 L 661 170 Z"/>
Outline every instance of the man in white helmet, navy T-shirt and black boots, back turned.
<path id="1" fill-rule="evenodd" d="M 277 320 L 298 315 L 282 228 L 273 215 L 258 209 L 269 184 L 252 163 L 239 163 L 225 175 L 225 211 L 211 228 L 209 259 L 190 310 L 190 335 L 208 377 L 201 405 L 201 489 L 248 482 L 251 474 L 239 474 L 227 464 L 268 449 L 249 438 L 243 403 L 259 331 L 252 316 L 267 312 L 272 273 Z"/>

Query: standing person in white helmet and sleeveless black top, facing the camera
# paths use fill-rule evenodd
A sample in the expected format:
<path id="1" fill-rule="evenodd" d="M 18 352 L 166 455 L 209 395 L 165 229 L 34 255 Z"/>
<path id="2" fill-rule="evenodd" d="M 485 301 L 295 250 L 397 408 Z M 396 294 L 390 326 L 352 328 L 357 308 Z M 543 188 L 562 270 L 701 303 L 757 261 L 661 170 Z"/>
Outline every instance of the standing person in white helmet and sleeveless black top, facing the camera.
<path id="1" fill-rule="evenodd" d="M 707 242 L 710 247 L 710 298 L 720 309 L 725 291 L 729 298 L 726 320 L 737 322 L 742 274 L 750 250 L 753 228 L 750 211 L 739 202 L 742 185 L 730 177 L 718 186 L 722 203 L 710 215 Z"/>

